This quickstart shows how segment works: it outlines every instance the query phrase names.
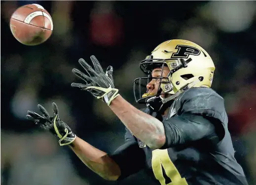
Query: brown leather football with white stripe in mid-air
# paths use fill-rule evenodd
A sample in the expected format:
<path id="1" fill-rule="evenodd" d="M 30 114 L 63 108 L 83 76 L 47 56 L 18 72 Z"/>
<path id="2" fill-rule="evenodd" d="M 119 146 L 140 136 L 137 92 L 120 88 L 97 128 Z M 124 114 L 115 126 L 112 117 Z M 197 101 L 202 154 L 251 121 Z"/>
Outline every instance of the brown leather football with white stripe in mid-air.
<path id="1" fill-rule="evenodd" d="M 45 42 L 52 34 L 50 14 L 39 4 L 27 4 L 12 14 L 10 29 L 22 44 L 35 46 Z"/>

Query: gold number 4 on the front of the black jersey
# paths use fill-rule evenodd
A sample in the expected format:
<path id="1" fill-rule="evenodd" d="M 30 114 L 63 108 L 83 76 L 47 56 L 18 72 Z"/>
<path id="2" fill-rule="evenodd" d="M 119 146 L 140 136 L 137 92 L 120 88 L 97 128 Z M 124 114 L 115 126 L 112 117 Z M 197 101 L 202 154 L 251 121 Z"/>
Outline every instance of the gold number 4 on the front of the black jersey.
<path id="1" fill-rule="evenodd" d="M 167 149 L 156 149 L 152 151 L 152 169 L 155 178 L 161 185 L 188 185 L 185 178 L 182 178 L 177 168 L 171 161 Z M 163 175 L 162 167 L 167 175 L 171 179 L 171 183 L 165 184 L 165 178 Z"/>

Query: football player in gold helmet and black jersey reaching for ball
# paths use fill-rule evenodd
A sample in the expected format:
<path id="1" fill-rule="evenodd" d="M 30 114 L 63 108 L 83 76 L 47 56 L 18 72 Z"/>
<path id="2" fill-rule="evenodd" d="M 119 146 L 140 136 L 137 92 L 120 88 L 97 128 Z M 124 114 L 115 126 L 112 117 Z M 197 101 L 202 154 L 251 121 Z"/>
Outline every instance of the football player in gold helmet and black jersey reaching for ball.
<path id="1" fill-rule="evenodd" d="M 227 129 L 223 98 L 211 89 L 215 65 L 199 45 L 187 40 L 168 40 L 140 63 L 146 77 L 136 78 L 138 110 L 114 87 L 111 66 L 104 72 L 91 56 L 83 59 L 86 73 L 73 69 L 85 83 L 73 87 L 89 91 L 105 101 L 126 127 L 125 141 L 113 154 L 83 141 L 60 120 L 38 105 L 42 115 L 27 117 L 69 145 L 91 170 L 107 180 L 121 180 L 141 169 L 159 185 L 247 185 Z"/>

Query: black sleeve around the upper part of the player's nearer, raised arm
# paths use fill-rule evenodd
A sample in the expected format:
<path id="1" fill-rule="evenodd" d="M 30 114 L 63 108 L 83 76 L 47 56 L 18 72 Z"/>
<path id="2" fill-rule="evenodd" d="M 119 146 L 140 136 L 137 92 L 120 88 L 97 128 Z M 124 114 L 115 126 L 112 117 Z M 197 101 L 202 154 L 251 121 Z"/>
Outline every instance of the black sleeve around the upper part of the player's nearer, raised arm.
<path id="1" fill-rule="evenodd" d="M 209 145 L 217 144 L 219 135 L 215 124 L 214 121 L 193 114 L 183 114 L 163 121 L 166 141 L 161 149 L 196 141 L 205 141 Z"/>

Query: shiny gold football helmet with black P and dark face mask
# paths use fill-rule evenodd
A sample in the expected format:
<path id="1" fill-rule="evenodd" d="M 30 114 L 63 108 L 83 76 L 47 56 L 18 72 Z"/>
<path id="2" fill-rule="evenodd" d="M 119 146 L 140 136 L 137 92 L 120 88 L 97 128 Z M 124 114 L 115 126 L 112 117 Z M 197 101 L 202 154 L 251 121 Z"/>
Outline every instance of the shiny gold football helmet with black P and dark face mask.
<path id="1" fill-rule="evenodd" d="M 167 77 L 162 77 L 159 93 L 154 95 L 145 91 L 144 94 L 138 93 L 138 87 L 139 92 L 142 92 L 141 81 L 150 78 L 154 68 L 164 66 L 168 66 L 170 72 Z M 189 88 L 210 88 L 215 71 L 213 60 L 201 46 L 182 39 L 168 40 L 159 44 L 151 55 L 140 63 L 140 68 L 148 77 L 135 79 L 134 95 L 137 102 L 147 104 L 150 103 L 149 99 L 159 97 L 160 92 L 172 94 L 165 99 L 160 97 L 162 103 L 167 103 Z"/>

